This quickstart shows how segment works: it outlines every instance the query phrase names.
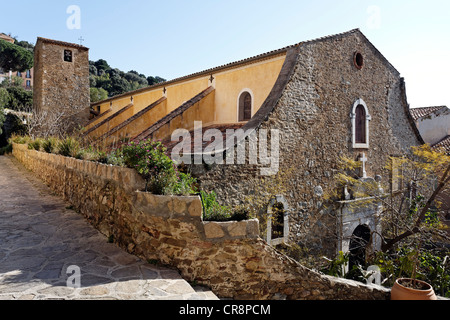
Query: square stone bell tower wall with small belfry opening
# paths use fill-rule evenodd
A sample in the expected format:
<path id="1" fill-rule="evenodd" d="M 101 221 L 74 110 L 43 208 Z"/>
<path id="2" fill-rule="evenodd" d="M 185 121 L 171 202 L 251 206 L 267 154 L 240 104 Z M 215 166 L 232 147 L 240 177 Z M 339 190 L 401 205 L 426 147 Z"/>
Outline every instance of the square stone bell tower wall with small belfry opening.
<path id="1" fill-rule="evenodd" d="M 69 53 L 70 59 L 65 59 Z M 90 116 L 89 49 L 38 38 L 34 64 L 33 109 L 40 117 L 37 121 L 69 132 L 85 126 Z M 48 127 L 41 130 L 51 131 Z"/>

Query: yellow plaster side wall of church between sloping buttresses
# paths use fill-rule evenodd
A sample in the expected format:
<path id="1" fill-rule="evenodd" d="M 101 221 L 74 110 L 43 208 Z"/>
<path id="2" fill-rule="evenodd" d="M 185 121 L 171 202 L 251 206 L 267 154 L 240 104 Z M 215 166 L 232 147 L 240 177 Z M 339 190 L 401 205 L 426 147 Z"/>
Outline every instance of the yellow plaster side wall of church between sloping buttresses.
<path id="1" fill-rule="evenodd" d="M 210 95 L 208 95 L 208 98 L 204 99 L 206 102 L 203 101 L 200 103 L 202 107 L 196 111 L 195 116 L 189 112 L 185 117 L 194 116 L 194 120 L 203 121 L 204 126 L 236 123 L 238 122 L 239 94 L 245 89 L 249 89 L 252 94 L 253 116 L 272 90 L 283 66 L 285 57 L 285 54 L 279 54 L 262 61 L 255 61 L 246 65 L 238 65 L 234 68 L 217 70 L 216 73 L 213 73 L 215 79 L 213 84 L 216 89 L 214 95 L 212 95 L 214 99 L 211 99 Z M 204 74 L 201 76 L 192 76 L 174 83 L 168 83 L 165 87 L 165 95 L 167 97 L 165 110 L 155 108 L 155 110 L 150 112 L 152 116 L 146 116 L 145 121 L 140 121 L 139 127 L 136 127 L 136 130 L 142 132 L 148 129 L 163 116 L 177 109 L 183 103 L 208 88 L 211 85 L 210 76 L 211 74 Z M 133 96 L 134 104 L 133 114 L 136 114 L 164 96 L 163 89 L 164 87 L 161 85 L 149 88 L 147 91 L 131 92 L 123 97 L 113 99 L 112 112 L 95 119 L 87 128 L 89 129 L 89 127 L 103 121 L 113 113 L 127 106 L 131 102 L 131 96 Z M 100 104 L 100 113 L 103 113 L 110 108 L 110 102 L 111 100 Z M 185 120 L 183 122 L 191 123 L 193 121 Z M 108 132 L 108 130 L 113 128 L 113 126 L 106 127 L 106 125 L 104 127 L 105 128 L 101 130 L 102 132 Z M 168 128 L 165 128 L 164 130 L 166 129 Z M 170 127 L 170 130 L 174 130 L 174 125 Z"/>

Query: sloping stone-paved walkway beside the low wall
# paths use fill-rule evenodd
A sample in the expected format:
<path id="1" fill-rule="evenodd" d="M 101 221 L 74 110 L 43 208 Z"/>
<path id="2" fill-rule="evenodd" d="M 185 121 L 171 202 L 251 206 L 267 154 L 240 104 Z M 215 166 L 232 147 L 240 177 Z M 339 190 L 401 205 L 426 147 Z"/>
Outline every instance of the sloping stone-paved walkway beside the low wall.
<path id="1" fill-rule="evenodd" d="M 70 266 L 77 266 L 81 276 Z M 76 270 L 75 270 L 76 271 Z M 80 280 L 80 288 L 72 288 Z M 71 286 L 67 286 L 67 283 Z M 0 300 L 217 299 L 127 254 L 12 157 L 0 156 Z"/>

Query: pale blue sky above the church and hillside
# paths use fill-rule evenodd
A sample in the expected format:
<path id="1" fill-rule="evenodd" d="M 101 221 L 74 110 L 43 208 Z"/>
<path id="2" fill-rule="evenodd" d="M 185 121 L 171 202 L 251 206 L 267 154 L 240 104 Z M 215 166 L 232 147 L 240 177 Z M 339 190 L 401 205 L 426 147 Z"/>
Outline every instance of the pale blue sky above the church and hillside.
<path id="1" fill-rule="evenodd" d="M 80 8 L 75 29 L 71 5 Z M 450 106 L 448 0 L 3 0 L 1 8 L 0 32 L 30 42 L 83 37 L 91 60 L 168 80 L 360 28 L 405 77 L 412 107 Z"/>

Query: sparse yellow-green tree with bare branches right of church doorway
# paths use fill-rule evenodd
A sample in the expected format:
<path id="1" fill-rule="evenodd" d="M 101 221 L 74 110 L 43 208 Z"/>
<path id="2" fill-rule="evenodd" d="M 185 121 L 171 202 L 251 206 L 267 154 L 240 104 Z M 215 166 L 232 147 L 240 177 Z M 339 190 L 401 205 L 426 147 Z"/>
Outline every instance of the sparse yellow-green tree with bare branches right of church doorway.
<path id="1" fill-rule="evenodd" d="M 429 145 L 412 147 L 409 157 L 390 158 L 386 169 L 391 173 L 391 186 L 383 186 L 390 193 L 380 192 L 380 185 L 370 179 L 359 179 L 352 172 L 358 163 L 343 159 L 345 172 L 337 175 L 358 205 L 381 203 L 384 211 L 383 243 L 387 252 L 412 236 L 430 234 L 446 238 L 441 232 L 438 197 L 450 188 L 450 156 L 433 150 Z"/>

